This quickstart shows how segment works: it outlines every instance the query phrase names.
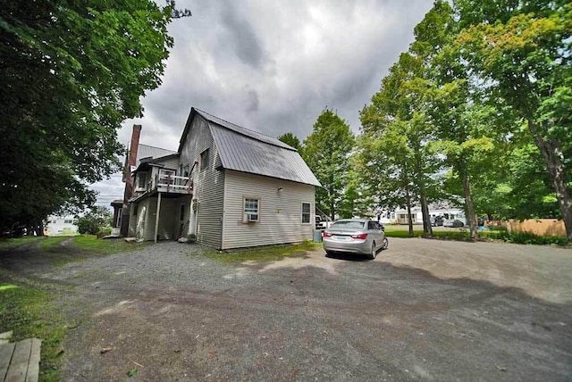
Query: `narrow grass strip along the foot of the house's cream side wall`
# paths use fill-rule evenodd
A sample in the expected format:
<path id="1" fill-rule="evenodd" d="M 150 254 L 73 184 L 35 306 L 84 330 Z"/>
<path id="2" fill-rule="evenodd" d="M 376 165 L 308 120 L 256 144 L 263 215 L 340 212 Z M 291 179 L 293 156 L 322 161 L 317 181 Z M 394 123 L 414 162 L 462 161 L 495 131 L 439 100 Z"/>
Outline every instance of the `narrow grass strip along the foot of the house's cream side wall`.
<path id="1" fill-rule="evenodd" d="M 300 244 L 265 245 L 223 253 L 205 253 L 205 255 L 220 262 L 274 262 L 287 256 L 303 254 L 321 247 L 322 243 L 307 241 Z"/>

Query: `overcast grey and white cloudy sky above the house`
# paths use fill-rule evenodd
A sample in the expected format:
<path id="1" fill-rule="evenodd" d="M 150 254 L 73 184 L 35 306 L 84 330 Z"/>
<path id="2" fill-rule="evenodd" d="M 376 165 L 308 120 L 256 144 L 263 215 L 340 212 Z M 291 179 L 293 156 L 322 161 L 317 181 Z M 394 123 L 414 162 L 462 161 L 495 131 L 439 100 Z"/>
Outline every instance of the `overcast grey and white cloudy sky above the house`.
<path id="1" fill-rule="evenodd" d="M 191 106 L 247 129 L 304 139 L 325 107 L 359 131 L 359 110 L 413 40 L 433 0 L 183 1 L 163 84 L 142 100 L 140 143 L 176 151 Z M 122 199 L 121 176 L 93 186 Z"/>

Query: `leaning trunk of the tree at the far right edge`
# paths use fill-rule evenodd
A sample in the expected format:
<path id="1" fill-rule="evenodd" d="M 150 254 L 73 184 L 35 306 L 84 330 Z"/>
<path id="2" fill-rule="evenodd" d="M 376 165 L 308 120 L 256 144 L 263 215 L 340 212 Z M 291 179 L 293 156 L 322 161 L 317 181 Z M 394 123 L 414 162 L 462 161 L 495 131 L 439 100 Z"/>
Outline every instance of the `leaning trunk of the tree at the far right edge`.
<path id="1" fill-rule="evenodd" d="M 528 129 L 530 129 L 536 145 L 543 154 L 544 163 L 546 164 L 554 190 L 556 191 L 560 214 L 562 215 L 562 220 L 564 220 L 564 226 L 566 227 L 568 243 L 572 243 L 572 197 L 566 185 L 566 179 L 564 176 L 564 154 L 562 153 L 562 149 L 558 141 L 554 139 L 544 140 L 543 137 L 540 137 L 536 133 L 534 121 L 530 118 L 528 119 Z"/>

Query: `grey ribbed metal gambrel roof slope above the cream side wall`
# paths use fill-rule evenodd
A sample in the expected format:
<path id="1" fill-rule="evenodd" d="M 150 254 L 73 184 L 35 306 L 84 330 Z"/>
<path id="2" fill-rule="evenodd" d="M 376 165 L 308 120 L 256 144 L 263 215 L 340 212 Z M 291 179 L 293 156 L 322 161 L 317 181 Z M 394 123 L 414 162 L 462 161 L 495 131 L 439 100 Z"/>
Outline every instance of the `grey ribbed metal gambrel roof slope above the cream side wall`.
<path id="1" fill-rule="evenodd" d="M 194 110 L 208 122 L 224 169 L 322 186 L 290 145 Z"/>

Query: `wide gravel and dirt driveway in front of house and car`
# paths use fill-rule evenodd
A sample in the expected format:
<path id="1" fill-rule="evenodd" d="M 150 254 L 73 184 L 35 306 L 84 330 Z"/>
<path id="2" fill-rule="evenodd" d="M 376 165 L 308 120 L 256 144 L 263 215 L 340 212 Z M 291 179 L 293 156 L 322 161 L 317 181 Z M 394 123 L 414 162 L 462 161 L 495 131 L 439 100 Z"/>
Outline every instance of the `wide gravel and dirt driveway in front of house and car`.
<path id="1" fill-rule="evenodd" d="M 228 265 L 192 248 L 26 270 L 75 286 L 66 380 L 572 378 L 571 250 L 392 238 L 371 262 Z"/>

